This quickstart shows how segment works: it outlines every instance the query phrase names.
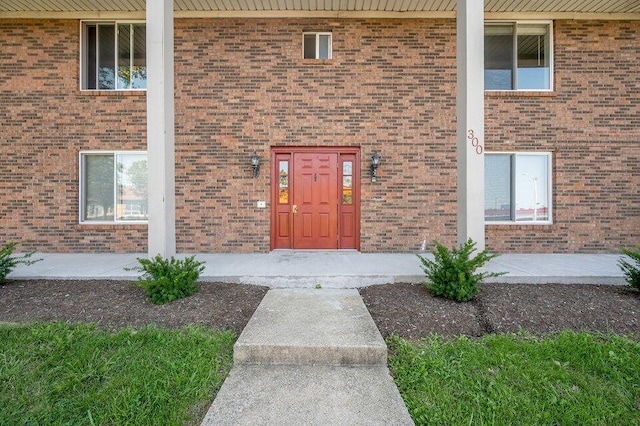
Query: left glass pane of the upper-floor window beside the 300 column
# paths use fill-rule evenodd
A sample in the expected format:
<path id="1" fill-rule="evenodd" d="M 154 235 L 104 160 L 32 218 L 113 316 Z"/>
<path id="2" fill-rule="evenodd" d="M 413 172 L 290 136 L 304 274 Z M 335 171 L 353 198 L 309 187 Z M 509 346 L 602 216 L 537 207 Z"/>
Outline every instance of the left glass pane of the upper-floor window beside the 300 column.
<path id="1" fill-rule="evenodd" d="M 484 88 L 513 89 L 513 25 L 485 27 Z"/>

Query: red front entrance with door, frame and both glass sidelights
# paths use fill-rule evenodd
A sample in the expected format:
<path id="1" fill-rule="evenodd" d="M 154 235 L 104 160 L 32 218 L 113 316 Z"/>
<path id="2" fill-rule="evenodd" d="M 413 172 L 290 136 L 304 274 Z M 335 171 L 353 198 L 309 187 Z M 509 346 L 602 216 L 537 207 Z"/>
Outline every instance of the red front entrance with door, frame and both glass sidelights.
<path id="1" fill-rule="evenodd" d="M 274 148 L 272 249 L 359 249 L 356 148 Z"/>

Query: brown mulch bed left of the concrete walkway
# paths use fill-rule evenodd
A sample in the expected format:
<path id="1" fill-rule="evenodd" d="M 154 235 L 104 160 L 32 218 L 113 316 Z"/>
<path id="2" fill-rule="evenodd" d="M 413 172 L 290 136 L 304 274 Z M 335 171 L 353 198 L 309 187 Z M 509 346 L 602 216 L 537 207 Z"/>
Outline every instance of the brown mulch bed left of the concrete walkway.
<path id="1" fill-rule="evenodd" d="M 196 294 L 158 306 L 128 281 L 8 281 L 0 284 L 0 321 L 92 322 L 108 328 L 193 324 L 240 334 L 267 292 L 241 284 L 198 286 Z"/>

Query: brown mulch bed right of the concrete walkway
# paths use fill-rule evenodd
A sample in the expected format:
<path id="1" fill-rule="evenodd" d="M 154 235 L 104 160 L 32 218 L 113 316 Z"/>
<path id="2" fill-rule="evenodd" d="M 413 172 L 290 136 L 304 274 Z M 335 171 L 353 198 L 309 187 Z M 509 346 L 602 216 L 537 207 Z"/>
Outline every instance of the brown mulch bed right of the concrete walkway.
<path id="1" fill-rule="evenodd" d="M 360 294 L 385 338 L 566 329 L 640 337 L 640 292 L 627 287 L 483 284 L 468 303 L 433 297 L 420 284 L 371 286 Z"/>

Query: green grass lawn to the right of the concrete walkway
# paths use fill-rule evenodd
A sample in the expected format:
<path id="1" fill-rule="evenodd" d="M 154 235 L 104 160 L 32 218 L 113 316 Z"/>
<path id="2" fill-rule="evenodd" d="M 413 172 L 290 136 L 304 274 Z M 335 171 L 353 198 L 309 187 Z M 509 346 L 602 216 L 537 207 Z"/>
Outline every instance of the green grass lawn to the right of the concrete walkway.
<path id="1" fill-rule="evenodd" d="M 563 332 L 388 344 L 417 425 L 640 425 L 637 340 Z"/>

